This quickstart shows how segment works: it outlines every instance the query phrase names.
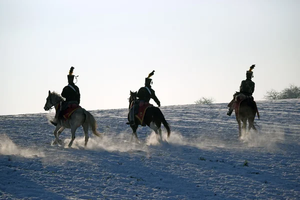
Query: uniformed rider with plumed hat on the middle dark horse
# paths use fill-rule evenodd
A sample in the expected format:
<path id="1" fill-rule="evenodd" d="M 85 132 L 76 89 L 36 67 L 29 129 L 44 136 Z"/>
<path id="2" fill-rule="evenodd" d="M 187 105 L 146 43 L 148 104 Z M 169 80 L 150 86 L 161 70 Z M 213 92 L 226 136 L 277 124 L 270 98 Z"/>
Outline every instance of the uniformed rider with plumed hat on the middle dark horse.
<path id="1" fill-rule="evenodd" d="M 151 88 L 151 84 L 152 79 L 149 78 L 154 74 L 154 70 L 148 74 L 148 77 L 145 78 L 145 86 L 144 87 L 140 87 L 137 91 L 136 97 L 138 98 L 135 102 L 134 105 L 130 108 L 129 110 L 129 122 L 127 122 L 127 124 L 133 125 L 134 124 L 134 113 L 133 113 L 133 109 L 137 110 L 137 106 L 139 104 L 139 102 L 143 101 L 143 102 L 147 102 L 149 103 L 150 99 L 152 98 L 155 103 L 158 105 L 158 107 L 160 107 L 160 101 L 158 100 L 158 98 L 155 95 L 155 91 Z"/>

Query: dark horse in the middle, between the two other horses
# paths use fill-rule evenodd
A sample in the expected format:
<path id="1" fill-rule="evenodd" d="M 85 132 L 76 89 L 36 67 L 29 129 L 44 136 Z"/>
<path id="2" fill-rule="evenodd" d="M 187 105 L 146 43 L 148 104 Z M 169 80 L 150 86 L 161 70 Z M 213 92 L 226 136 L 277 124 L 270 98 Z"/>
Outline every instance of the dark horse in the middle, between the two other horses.
<path id="1" fill-rule="evenodd" d="M 136 91 L 135 92 L 130 91 L 129 109 L 131 107 L 131 103 L 135 100 L 136 100 Z M 128 121 L 129 121 L 129 113 L 128 113 Z M 156 139 L 158 141 L 161 140 L 161 128 L 160 128 L 161 123 L 166 129 L 167 138 L 170 136 L 171 130 L 169 124 L 166 122 L 162 112 L 158 107 L 154 107 L 154 106 L 148 107 L 145 111 L 143 122 L 155 131 Z M 135 136 L 135 139 L 138 141 L 137 134 L 136 134 L 136 129 L 138 125 L 141 125 L 141 123 L 136 117 L 134 117 L 134 125 L 130 125 L 132 129 L 131 141 L 133 135 Z"/>

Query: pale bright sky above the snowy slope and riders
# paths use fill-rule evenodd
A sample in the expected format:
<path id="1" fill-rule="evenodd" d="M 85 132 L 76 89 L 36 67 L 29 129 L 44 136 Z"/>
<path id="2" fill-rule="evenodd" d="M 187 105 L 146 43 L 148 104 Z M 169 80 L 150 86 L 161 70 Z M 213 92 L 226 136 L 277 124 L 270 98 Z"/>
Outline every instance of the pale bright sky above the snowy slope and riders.
<path id="1" fill-rule="evenodd" d="M 298 0 L 0 0 L 0 115 L 45 112 L 69 68 L 87 110 L 229 102 L 253 70 L 255 100 L 300 85 Z M 155 102 L 151 100 L 155 105 Z"/>

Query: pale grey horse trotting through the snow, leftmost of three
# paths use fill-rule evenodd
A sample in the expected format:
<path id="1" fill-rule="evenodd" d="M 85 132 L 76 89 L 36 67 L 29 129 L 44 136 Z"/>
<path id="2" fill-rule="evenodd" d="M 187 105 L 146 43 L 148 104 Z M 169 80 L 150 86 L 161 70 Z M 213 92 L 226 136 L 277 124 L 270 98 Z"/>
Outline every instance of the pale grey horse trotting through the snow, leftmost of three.
<path id="1" fill-rule="evenodd" d="M 56 92 L 50 92 L 48 97 L 46 98 L 46 103 L 44 106 L 45 110 L 49 110 L 52 106 L 55 107 L 55 110 L 57 111 L 58 104 L 64 101 L 63 98 L 57 94 Z M 60 133 L 65 128 L 71 129 L 71 141 L 68 144 L 68 147 L 71 147 L 74 139 L 75 139 L 75 131 L 76 129 L 82 125 L 83 131 L 84 131 L 84 147 L 86 147 L 87 141 L 88 141 L 88 128 L 91 127 L 92 133 L 96 136 L 101 136 L 99 132 L 97 132 L 97 123 L 95 118 L 91 115 L 90 112 L 86 111 L 83 108 L 76 109 L 69 118 L 66 120 L 57 120 L 56 128 L 53 132 L 55 136 L 55 140 L 53 141 L 53 144 L 56 144 L 57 142 L 61 144 L 61 139 L 59 139 Z"/>

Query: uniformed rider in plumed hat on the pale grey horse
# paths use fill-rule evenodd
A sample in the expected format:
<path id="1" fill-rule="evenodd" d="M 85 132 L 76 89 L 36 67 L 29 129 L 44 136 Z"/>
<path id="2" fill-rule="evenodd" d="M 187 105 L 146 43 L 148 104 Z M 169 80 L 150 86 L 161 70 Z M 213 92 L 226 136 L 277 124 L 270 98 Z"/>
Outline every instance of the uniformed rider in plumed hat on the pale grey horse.
<path id="1" fill-rule="evenodd" d="M 62 110 L 65 110 L 68 107 L 68 105 L 70 105 L 70 104 L 79 105 L 79 103 L 80 103 L 79 88 L 73 82 L 74 77 L 76 77 L 75 75 L 73 75 L 73 69 L 74 69 L 74 67 L 71 66 L 71 68 L 69 70 L 69 74 L 67 75 L 68 85 L 63 87 L 62 92 L 61 92 L 61 96 L 65 98 L 65 101 L 61 101 L 60 108 L 56 110 L 53 121 L 50 120 L 50 122 L 55 126 L 57 125 L 57 121 L 60 118 L 60 112 Z"/>

